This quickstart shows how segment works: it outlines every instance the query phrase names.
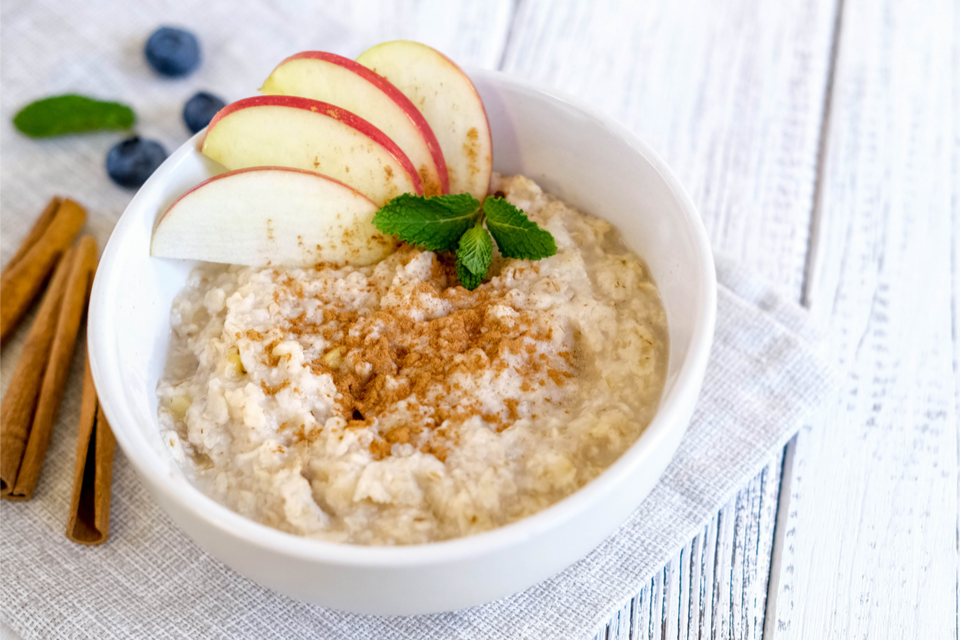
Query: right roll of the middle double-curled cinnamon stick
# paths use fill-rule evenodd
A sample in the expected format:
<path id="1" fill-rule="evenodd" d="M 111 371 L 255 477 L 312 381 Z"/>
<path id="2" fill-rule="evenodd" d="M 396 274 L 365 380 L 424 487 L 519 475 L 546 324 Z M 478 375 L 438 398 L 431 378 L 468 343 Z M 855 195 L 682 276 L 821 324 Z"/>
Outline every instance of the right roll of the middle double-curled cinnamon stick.
<path id="1" fill-rule="evenodd" d="M 50 357 L 43 373 L 43 384 L 30 426 L 30 435 L 16 482 L 11 491 L 3 496 L 7 500 L 29 500 L 33 497 L 47 445 L 50 443 L 50 434 L 56 424 L 77 332 L 80 330 L 80 320 L 87 308 L 96 266 L 97 241 L 92 236 L 85 236 L 71 256 L 70 275 L 60 305 Z"/>

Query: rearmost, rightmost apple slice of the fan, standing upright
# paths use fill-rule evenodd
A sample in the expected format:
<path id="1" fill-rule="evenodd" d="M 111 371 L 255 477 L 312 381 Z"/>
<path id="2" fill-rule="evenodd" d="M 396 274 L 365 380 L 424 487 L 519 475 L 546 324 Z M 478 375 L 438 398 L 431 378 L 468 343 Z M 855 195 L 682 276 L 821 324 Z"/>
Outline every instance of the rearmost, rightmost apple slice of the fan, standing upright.
<path id="1" fill-rule="evenodd" d="M 423 113 L 447 161 L 450 193 L 482 200 L 493 171 L 493 143 L 487 112 L 467 74 L 436 49 L 410 40 L 378 44 L 357 62 L 389 80 Z"/>

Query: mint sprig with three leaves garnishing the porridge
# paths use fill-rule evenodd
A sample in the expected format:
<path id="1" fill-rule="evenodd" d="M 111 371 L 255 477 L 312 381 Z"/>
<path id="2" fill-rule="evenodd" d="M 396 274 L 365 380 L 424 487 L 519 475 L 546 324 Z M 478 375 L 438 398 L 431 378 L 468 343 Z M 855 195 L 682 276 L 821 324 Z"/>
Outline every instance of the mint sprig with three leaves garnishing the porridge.
<path id="1" fill-rule="evenodd" d="M 430 251 L 456 250 L 457 279 L 470 290 L 480 286 L 490 269 L 491 234 L 506 258 L 539 260 L 557 252 L 550 232 L 503 198 L 487 198 L 481 206 L 467 193 L 432 197 L 407 193 L 384 205 L 373 224 Z"/>

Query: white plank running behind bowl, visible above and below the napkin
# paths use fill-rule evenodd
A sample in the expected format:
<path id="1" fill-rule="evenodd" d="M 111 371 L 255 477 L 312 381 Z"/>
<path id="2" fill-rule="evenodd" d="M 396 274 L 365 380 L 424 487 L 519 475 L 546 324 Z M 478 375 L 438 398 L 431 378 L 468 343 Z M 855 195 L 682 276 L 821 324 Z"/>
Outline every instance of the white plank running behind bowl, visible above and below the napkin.
<path id="1" fill-rule="evenodd" d="M 690 190 L 716 249 L 799 301 L 835 17 L 834 0 L 525 0 L 503 69 L 639 133 Z M 781 459 L 641 590 L 630 637 L 762 635 Z M 605 633 L 621 633 L 619 618 Z"/>

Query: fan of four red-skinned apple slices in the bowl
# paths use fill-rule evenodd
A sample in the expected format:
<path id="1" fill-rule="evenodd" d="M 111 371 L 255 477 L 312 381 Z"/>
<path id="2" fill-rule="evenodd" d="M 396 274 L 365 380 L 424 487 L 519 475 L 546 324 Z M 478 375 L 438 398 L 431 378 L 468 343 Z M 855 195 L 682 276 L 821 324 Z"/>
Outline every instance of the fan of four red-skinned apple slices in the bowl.
<path id="1" fill-rule="evenodd" d="M 395 243 L 371 222 L 403 194 L 487 194 L 490 127 L 473 83 L 420 43 L 379 44 L 354 62 L 306 51 L 262 96 L 227 105 L 203 155 L 227 173 L 173 203 L 151 254 L 252 266 L 371 264 Z"/>

